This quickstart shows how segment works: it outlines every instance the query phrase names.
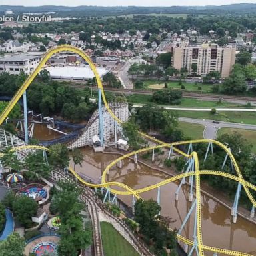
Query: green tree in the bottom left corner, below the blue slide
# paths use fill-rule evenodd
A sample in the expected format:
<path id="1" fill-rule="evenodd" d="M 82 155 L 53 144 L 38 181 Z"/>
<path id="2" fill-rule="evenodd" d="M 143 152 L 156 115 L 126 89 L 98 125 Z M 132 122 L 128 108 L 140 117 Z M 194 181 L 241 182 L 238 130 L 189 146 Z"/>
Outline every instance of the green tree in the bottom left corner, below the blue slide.
<path id="1" fill-rule="evenodd" d="M 0 256 L 23 256 L 24 250 L 25 240 L 18 233 L 13 233 L 0 241 Z"/>

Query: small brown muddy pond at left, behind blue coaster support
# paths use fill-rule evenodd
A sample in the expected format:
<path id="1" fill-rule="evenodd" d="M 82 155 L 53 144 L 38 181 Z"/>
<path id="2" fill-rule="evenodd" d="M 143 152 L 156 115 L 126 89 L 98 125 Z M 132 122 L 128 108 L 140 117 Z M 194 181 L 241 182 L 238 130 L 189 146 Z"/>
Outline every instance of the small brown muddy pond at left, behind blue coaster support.
<path id="1" fill-rule="evenodd" d="M 39 139 L 39 141 L 50 141 L 51 139 L 57 139 L 61 137 L 61 133 L 57 133 L 49 128 L 46 124 L 35 123 L 33 138 Z"/>

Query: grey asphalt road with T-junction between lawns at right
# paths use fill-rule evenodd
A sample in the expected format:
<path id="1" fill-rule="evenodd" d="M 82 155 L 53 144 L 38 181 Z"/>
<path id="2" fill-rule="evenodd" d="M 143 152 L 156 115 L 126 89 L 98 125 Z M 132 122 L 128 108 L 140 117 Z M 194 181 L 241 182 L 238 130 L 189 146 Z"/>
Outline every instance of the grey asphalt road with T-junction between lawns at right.
<path id="1" fill-rule="evenodd" d="M 219 123 L 213 123 L 213 120 L 193 119 L 187 117 L 179 117 L 179 121 L 203 125 L 205 127 L 205 130 L 203 131 L 203 137 L 205 139 L 216 139 L 217 131 L 221 128 L 236 128 L 256 131 L 256 125 L 247 125 L 242 123 L 230 123 L 224 121 L 220 121 Z"/>

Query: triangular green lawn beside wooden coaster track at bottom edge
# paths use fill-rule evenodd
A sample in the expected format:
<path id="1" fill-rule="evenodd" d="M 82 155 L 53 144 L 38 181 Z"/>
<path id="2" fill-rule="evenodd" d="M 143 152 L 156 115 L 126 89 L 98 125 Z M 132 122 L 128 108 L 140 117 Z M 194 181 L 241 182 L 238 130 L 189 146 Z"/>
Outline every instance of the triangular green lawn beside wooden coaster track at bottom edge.
<path id="1" fill-rule="evenodd" d="M 101 235 L 105 256 L 139 256 L 110 223 L 101 222 Z"/>

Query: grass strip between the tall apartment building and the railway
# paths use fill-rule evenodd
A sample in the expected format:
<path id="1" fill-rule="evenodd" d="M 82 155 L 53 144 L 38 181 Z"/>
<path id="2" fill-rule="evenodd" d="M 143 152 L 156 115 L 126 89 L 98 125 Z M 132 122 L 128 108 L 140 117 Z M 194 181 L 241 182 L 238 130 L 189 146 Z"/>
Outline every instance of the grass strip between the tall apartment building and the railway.
<path id="1" fill-rule="evenodd" d="M 143 84 L 147 89 L 161 89 L 161 87 L 163 88 L 165 83 L 168 84 L 169 88 L 172 89 L 181 89 L 181 85 L 179 85 L 179 81 L 159 81 L 159 80 L 144 80 Z M 211 93 L 211 87 L 212 85 L 208 85 L 206 83 L 197 83 L 197 85 L 195 85 L 195 83 L 187 83 L 187 82 L 183 82 L 182 83 L 185 86 L 185 91 L 195 91 L 197 93 L 199 93 L 200 91 L 198 90 L 198 87 L 202 88 L 202 91 L 204 93 Z"/>

